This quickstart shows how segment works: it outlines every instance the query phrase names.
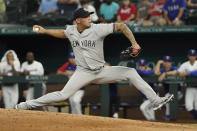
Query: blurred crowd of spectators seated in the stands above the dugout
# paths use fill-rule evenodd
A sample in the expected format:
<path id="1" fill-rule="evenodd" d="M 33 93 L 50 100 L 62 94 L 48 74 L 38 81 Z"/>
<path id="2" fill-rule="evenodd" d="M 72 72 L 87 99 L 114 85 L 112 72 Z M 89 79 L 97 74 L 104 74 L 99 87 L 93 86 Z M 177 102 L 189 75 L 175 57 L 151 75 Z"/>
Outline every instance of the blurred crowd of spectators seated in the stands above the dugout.
<path id="1" fill-rule="evenodd" d="M 72 21 L 73 12 L 80 7 L 95 12 L 92 15 L 95 23 L 122 22 L 130 26 L 197 24 L 197 0 L 0 0 L 0 22 L 14 23 L 13 16 L 19 14 L 16 17 L 19 24 L 28 25 L 27 19 L 40 20 L 45 16 L 43 19 L 53 19 L 52 25 L 55 25 L 60 21 L 58 16 Z M 65 21 L 64 25 L 72 23 L 70 21 Z"/>

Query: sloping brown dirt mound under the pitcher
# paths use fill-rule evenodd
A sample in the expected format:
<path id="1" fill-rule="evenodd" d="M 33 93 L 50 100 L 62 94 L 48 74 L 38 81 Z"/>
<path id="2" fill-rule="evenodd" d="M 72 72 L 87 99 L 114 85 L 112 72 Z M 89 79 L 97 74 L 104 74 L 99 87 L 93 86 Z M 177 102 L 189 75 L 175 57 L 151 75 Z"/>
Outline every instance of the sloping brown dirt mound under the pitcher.
<path id="1" fill-rule="evenodd" d="M 0 109 L 0 131 L 197 131 L 197 126 Z"/>

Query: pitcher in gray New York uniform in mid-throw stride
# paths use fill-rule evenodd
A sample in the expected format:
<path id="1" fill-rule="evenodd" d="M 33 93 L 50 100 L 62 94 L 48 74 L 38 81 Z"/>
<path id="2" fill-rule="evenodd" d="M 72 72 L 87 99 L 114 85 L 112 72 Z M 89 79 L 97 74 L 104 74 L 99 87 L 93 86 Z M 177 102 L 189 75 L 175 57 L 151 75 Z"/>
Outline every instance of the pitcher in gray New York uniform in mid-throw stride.
<path id="1" fill-rule="evenodd" d="M 61 91 L 46 94 L 38 99 L 29 100 L 16 105 L 16 109 L 31 109 L 52 102 L 63 101 L 72 96 L 80 88 L 91 84 L 114 83 L 129 81 L 151 101 L 154 110 L 173 99 L 173 95 L 159 97 L 153 89 L 138 75 L 134 68 L 122 66 L 104 66 L 103 41 L 114 32 L 121 31 L 131 42 L 132 48 L 123 54 L 135 57 L 140 52 L 133 33 L 123 23 L 93 24 L 88 12 L 79 8 L 74 12 L 76 25 L 68 25 L 65 30 L 47 30 L 41 26 L 38 34 L 47 34 L 56 38 L 68 38 L 76 58 L 77 69 Z"/>

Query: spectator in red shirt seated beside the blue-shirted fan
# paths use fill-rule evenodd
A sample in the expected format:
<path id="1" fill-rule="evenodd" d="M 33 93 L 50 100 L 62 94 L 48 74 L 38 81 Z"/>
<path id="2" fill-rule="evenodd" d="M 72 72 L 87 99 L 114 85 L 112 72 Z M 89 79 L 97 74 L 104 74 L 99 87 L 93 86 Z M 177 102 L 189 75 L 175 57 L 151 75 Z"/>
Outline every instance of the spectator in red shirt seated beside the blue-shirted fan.
<path id="1" fill-rule="evenodd" d="M 153 3 L 148 10 L 150 18 L 148 21 L 144 21 L 143 26 L 162 26 L 166 24 L 165 19 L 163 18 L 162 9 L 165 4 L 165 0 L 158 0 L 156 3 Z"/>

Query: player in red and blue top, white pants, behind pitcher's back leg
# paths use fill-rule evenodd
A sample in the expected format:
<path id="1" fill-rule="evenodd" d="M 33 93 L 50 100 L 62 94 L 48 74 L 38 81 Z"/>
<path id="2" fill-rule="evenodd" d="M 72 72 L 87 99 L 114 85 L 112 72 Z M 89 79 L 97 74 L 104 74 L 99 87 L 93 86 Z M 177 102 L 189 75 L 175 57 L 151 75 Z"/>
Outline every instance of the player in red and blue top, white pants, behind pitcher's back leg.
<path id="1" fill-rule="evenodd" d="M 63 66 L 61 66 L 57 70 L 56 74 L 65 75 L 70 78 L 74 74 L 75 70 L 76 70 L 75 56 L 73 52 L 71 52 L 69 54 L 68 62 L 66 62 Z M 84 96 L 84 93 L 85 93 L 84 88 L 81 88 L 69 98 L 72 114 L 82 114 L 81 101 Z"/>

